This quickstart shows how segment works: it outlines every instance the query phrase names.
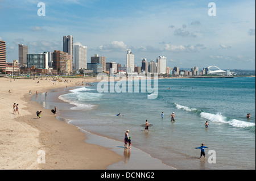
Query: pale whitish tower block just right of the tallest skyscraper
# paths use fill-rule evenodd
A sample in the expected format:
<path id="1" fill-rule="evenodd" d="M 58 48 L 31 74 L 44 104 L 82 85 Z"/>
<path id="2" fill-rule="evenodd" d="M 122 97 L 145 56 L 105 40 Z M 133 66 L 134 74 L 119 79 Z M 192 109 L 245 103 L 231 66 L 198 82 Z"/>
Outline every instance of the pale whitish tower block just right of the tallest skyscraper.
<path id="1" fill-rule="evenodd" d="M 74 46 L 75 69 L 87 69 L 87 47 L 82 45 Z"/>

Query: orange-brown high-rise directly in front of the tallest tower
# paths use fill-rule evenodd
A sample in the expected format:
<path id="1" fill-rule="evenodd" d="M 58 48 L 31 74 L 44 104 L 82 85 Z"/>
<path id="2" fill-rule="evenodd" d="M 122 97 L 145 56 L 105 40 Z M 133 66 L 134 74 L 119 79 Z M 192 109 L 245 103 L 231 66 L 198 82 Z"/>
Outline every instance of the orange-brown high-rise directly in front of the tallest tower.
<path id="1" fill-rule="evenodd" d="M 68 53 L 62 52 L 60 50 L 54 50 L 52 58 L 53 58 L 53 69 L 57 70 L 59 74 L 66 74 Z M 69 64 L 69 66 L 71 65 Z"/>

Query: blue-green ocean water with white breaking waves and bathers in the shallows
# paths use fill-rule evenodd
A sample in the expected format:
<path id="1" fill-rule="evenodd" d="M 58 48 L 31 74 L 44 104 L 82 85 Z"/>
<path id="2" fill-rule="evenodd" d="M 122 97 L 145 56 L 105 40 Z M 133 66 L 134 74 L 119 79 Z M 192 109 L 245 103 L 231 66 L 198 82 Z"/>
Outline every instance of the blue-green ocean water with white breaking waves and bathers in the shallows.
<path id="1" fill-rule="evenodd" d="M 133 83 L 136 86 L 141 84 Z M 176 169 L 255 169 L 255 78 L 159 79 L 156 99 L 139 90 L 100 93 L 95 83 L 55 93 L 69 103 L 58 104 L 59 116 L 120 142 L 129 129 L 132 148 Z M 175 122 L 169 118 L 172 112 Z M 149 132 L 144 131 L 146 120 L 152 124 Z M 199 159 L 200 149 L 195 149 L 201 143 L 209 147 L 207 159 Z"/>

